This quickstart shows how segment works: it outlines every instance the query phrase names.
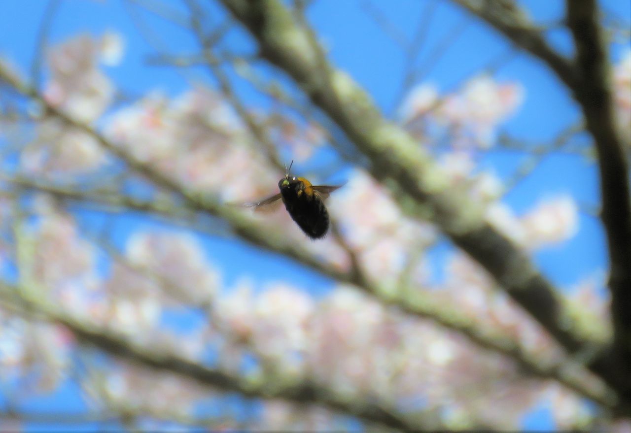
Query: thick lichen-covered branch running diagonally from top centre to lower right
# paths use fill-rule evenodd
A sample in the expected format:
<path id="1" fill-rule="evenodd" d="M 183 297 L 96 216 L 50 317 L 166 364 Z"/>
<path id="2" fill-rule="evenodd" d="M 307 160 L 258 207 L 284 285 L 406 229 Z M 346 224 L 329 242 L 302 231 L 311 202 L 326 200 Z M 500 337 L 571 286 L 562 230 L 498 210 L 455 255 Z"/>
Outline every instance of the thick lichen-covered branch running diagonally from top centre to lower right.
<path id="1" fill-rule="evenodd" d="M 343 129 L 372 161 L 372 175 L 395 180 L 414 199 L 417 215 L 430 217 L 570 352 L 593 344 L 574 332 L 557 291 L 524 252 L 485 221 L 483 209 L 466 192 L 452 191 L 431 156 L 404 130 L 387 122 L 369 96 L 346 74 L 326 63 L 309 29 L 298 26 L 280 1 L 221 0 L 259 42 L 261 55 L 283 69 L 311 100 Z M 529 34 L 521 31 L 521 34 Z M 545 54 L 558 72 L 574 81 L 569 62 L 542 40 L 531 49 Z M 422 211 L 419 211 L 422 207 Z M 607 371 L 599 371 L 606 376 Z"/>

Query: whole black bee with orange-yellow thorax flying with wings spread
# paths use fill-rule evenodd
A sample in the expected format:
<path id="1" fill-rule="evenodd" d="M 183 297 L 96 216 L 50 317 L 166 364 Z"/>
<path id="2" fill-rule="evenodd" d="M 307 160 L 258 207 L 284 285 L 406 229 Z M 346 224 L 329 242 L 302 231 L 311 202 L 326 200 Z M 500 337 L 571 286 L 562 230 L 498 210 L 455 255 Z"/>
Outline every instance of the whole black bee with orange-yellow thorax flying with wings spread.
<path id="1" fill-rule="evenodd" d="M 246 203 L 244 206 L 258 210 L 282 199 L 293 221 L 309 238 L 322 238 L 329 229 L 329 212 L 324 206 L 324 200 L 341 185 L 311 185 L 304 177 L 289 175 L 292 165 L 293 161 L 289 168 L 285 166 L 285 177 L 278 181 L 280 193 L 260 202 Z"/>

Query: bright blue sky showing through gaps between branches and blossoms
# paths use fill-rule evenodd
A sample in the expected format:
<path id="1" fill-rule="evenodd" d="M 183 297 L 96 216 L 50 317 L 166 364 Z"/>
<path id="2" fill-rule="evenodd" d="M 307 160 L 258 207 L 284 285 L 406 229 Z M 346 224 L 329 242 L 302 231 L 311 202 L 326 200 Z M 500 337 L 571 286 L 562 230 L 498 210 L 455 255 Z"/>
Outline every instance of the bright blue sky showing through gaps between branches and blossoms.
<path id="1" fill-rule="evenodd" d="M 11 59 L 23 71 L 30 68 L 37 28 L 46 3 L 40 0 L 4 0 L 0 3 L 0 55 Z M 375 0 L 372 3 L 386 13 L 388 20 L 397 23 L 397 32 L 411 38 L 423 10 L 430 2 Z M 529 0 L 523 3 L 531 9 L 533 16 L 542 21 L 553 21 L 563 13 L 560 6 L 562 2 Z M 608 10 L 628 21 L 630 11 L 627 0 L 602 3 Z M 184 11 L 179 7 L 179 2 L 165 4 Z M 355 0 L 319 0 L 310 8 L 309 20 L 322 35 L 334 64 L 350 72 L 370 92 L 384 113 L 392 115 L 396 112 L 394 102 L 401 88 L 404 55 L 396 43 L 384 35 L 374 20 L 362 11 L 361 5 L 361 1 Z M 216 21 L 220 20 L 221 14 L 223 12 L 216 10 Z M 145 37 L 154 38 L 163 48 L 174 53 L 192 54 L 198 48 L 186 31 L 122 0 L 62 1 L 52 25 L 50 42 L 62 42 L 79 32 L 100 35 L 106 30 L 115 30 L 126 39 L 126 55 L 121 66 L 108 68 L 107 72 L 121 89 L 134 95 L 143 95 L 155 89 L 168 95 L 184 91 L 189 84 L 182 74 L 169 68 L 147 66 L 146 58 L 155 51 L 139 35 L 138 24 L 151 29 L 150 32 L 144 32 Z M 417 64 L 425 64 L 436 44 L 446 34 L 463 26 L 459 38 L 425 74 L 425 80 L 437 84 L 440 89 L 453 89 L 463 79 L 481 71 L 492 59 L 497 59 L 510 49 L 488 26 L 469 19 L 460 9 L 440 1 Z M 551 37 L 555 47 L 569 52 L 570 40 L 566 32 L 556 31 Z M 233 32 L 230 43 L 239 48 L 249 45 L 243 32 Z M 617 58 L 623 48 L 614 50 L 613 57 Z M 193 69 L 190 73 L 195 80 L 212 83 L 201 69 Z M 536 142 L 550 140 L 579 118 L 577 107 L 555 76 L 528 55 L 512 57 L 497 71 L 496 76 L 500 80 L 519 81 L 526 89 L 521 110 L 504 124 L 503 129 L 513 136 Z M 246 84 L 240 84 L 238 91 L 253 104 L 265 103 Z M 516 166 L 512 156 L 507 157 L 502 153 L 493 153 L 483 161 L 484 168 L 492 168 L 502 176 L 510 176 Z M 570 193 L 581 204 L 597 205 L 597 174 L 596 168 L 584 158 L 550 156 L 532 176 L 519 183 L 505 200 L 518 213 L 529 209 L 541 197 L 558 193 Z M 78 216 L 86 229 L 97 229 L 102 222 L 102 218 L 94 212 L 81 211 Z M 147 224 L 146 218 L 142 216 L 130 214 L 120 217 L 115 224 L 114 242 L 123 245 L 129 233 L 147 228 Z M 157 221 L 150 224 L 160 226 Z M 575 238 L 561 246 L 540 251 L 534 257 L 543 273 L 561 287 L 606 268 L 606 245 L 598 219 L 582 213 L 579 224 L 580 232 Z M 228 285 L 245 275 L 261 284 L 289 279 L 314 294 L 326 292 L 331 287 L 331 282 L 324 277 L 305 271 L 285 258 L 262 255 L 249 246 L 208 236 L 203 237 L 203 245 L 209 259 L 221 267 L 223 279 Z M 234 265 L 244 260 L 253 263 L 246 273 Z M 76 403 L 76 390 L 72 386 L 64 389 L 61 395 Z M 33 404 L 38 408 L 46 407 L 52 401 L 51 398 L 53 396 L 39 403 L 33 401 Z M 54 398 L 59 398 L 59 395 Z M 74 406 L 74 403 L 69 405 Z M 553 427 L 545 408 L 538 408 L 535 413 L 536 416 L 526 421 L 528 427 Z"/>

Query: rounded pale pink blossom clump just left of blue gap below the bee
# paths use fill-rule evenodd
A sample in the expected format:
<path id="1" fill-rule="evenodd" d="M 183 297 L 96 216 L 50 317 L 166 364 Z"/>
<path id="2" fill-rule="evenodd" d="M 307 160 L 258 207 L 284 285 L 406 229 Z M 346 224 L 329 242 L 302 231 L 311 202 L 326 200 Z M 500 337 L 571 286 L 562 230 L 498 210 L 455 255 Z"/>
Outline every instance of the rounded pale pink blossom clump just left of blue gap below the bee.
<path id="1" fill-rule="evenodd" d="M 220 288 L 218 270 L 205 258 L 192 236 L 182 233 L 136 233 L 112 264 L 100 285 L 101 304 L 107 306 L 103 323 L 118 332 L 162 347 L 179 347 L 182 354 L 196 357 L 201 350 L 200 334 L 189 340 L 160 329 L 168 308 L 208 303 Z M 144 335 L 143 335 L 144 333 Z"/>

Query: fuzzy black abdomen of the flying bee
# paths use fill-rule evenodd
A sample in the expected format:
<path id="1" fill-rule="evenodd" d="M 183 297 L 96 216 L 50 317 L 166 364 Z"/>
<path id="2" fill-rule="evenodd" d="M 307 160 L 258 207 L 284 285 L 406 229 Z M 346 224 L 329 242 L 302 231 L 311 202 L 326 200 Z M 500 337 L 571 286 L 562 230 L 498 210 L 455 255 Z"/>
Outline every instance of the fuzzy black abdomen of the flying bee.
<path id="1" fill-rule="evenodd" d="M 329 229 L 329 212 L 321 199 L 315 196 L 297 197 L 292 191 L 283 191 L 285 209 L 302 231 L 312 239 L 322 238 Z"/>

